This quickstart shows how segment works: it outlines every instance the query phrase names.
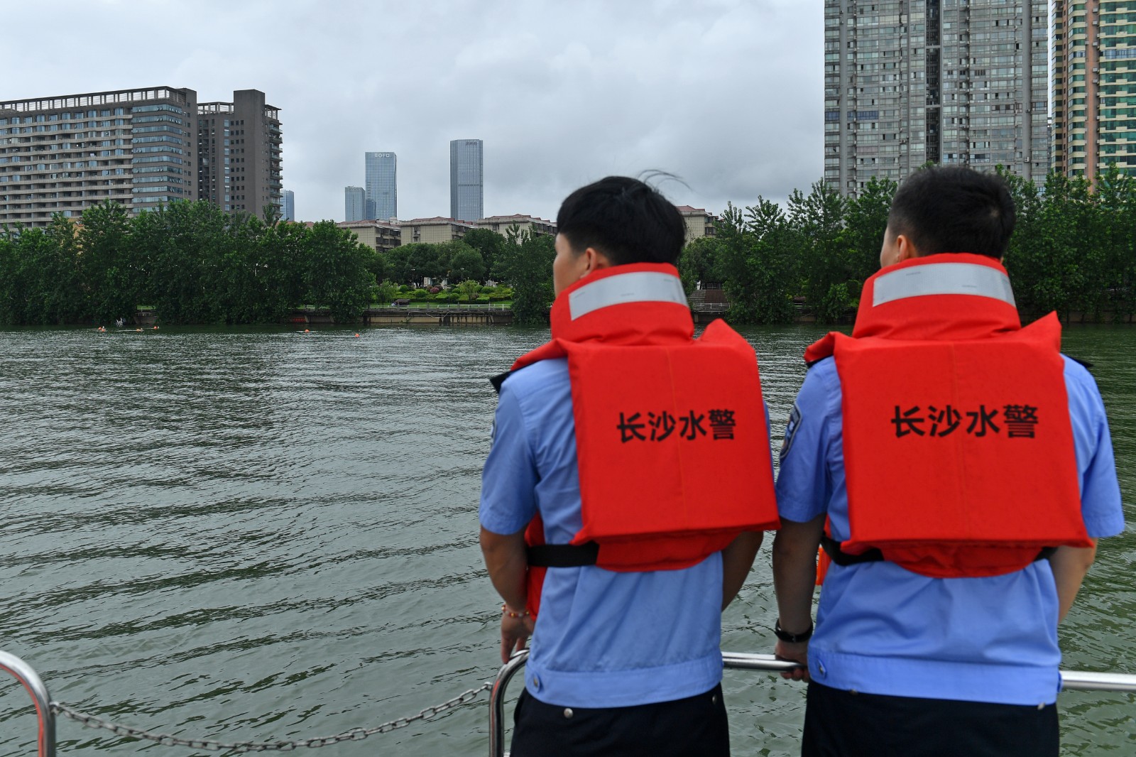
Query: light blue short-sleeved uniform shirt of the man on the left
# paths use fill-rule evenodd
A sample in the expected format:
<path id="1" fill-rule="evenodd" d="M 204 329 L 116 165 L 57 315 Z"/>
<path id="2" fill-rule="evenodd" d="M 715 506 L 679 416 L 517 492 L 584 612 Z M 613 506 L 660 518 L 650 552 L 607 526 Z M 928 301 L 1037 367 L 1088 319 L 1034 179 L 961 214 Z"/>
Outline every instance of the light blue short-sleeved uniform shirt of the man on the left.
<path id="1" fill-rule="evenodd" d="M 544 538 L 580 529 L 568 363 L 542 360 L 501 388 L 482 473 L 485 530 L 517 533 L 540 511 Z M 721 680 L 721 554 L 683 571 L 549 568 L 525 687 L 563 707 L 628 707 L 694 697 Z"/>

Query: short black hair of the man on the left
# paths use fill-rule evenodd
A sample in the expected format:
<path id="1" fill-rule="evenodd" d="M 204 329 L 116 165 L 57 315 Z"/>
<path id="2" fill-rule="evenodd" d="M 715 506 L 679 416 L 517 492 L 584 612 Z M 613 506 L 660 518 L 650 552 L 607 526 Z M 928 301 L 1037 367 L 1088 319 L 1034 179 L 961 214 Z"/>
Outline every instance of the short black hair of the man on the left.
<path id="1" fill-rule="evenodd" d="M 593 248 L 613 266 L 677 265 L 686 242 L 683 214 L 659 190 L 628 176 L 582 186 L 560 205 L 557 232 L 574 252 Z"/>

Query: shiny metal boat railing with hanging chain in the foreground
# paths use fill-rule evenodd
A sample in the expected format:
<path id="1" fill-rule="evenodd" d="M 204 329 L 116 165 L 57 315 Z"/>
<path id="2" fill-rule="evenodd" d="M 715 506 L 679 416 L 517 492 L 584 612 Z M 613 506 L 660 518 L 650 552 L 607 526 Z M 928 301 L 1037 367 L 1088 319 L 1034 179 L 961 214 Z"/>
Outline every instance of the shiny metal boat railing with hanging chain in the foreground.
<path id="1" fill-rule="evenodd" d="M 209 751 L 248 752 L 248 751 L 292 751 L 299 747 L 326 747 L 341 741 L 361 741 L 376 733 L 389 733 L 411 723 L 429 719 L 448 709 L 468 704 L 477 699 L 483 691 L 490 691 L 490 757 L 504 757 L 504 694 L 509 682 L 528 660 L 528 651 L 516 652 L 508 663 L 498 671 L 496 680 L 483 683 L 476 689 L 461 692 L 453 699 L 427 707 L 417 715 L 399 717 L 374 727 L 354 727 L 331 737 L 319 737 L 299 740 L 276 741 L 235 741 L 222 742 L 211 739 L 185 739 L 166 733 L 154 733 L 127 725 L 110 723 L 99 717 L 80 713 L 67 705 L 52 701 L 48 688 L 31 665 L 15 655 L 0 651 L 0 671 L 15 677 L 32 697 L 39 723 L 36 747 L 39 757 L 56 757 L 56 715 L 62 714 L 80 724 L 103 729 L 117 735 L 144 739 L 169 747 L 189 747 Z M 797 667 L 775 658 L 772 655 L 751 655 L 746 652 L 722 652 L 722 665 L 735 671 L 765 671 L 780 673 Z M 1085 671 L 1062 671 L 1061 684 L 1064 691 L 1127 691 L 1136 692 L 1136 675 L 1125 673 L 1089 673 Z"/>

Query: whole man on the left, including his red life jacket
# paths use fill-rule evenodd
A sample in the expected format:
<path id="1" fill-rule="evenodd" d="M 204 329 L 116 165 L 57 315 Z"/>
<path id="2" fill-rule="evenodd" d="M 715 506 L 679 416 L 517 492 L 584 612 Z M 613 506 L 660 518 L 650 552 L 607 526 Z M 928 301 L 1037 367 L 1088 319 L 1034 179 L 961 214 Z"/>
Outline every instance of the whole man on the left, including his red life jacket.
<path id="1" fill-rule="evenodd" d="M 609 176 L 557 226 L 552 340 L 495 381 L 482 480 L 501 659 L 533 635 L 510 752 L 728 755 L 720 614 L 777 522 L 757 359 L 692 339 L 657 190 Z"/>

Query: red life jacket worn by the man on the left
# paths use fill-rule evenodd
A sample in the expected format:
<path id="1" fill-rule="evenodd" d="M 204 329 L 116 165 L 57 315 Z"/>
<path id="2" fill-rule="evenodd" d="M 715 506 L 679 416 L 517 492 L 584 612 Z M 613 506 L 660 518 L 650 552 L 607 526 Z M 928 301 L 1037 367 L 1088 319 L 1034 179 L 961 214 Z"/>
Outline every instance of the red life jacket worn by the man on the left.
<path id="1" fill-rule="evenodd" d="M 753 348 L 722 321 L 693 339 L 677 269 L 596 271 L 552 306 L 552 340 L 512 366 L 568 358 L 583 525 L 595 565 L 690 567 L 779 525 Z M 540 518 L 528 544 L 544 541 Z M 543 568 L 529 572 L 538 610 Z"/>

